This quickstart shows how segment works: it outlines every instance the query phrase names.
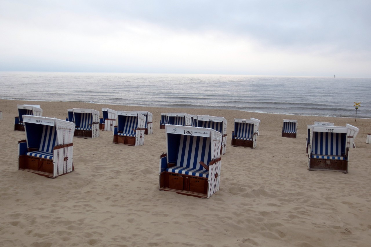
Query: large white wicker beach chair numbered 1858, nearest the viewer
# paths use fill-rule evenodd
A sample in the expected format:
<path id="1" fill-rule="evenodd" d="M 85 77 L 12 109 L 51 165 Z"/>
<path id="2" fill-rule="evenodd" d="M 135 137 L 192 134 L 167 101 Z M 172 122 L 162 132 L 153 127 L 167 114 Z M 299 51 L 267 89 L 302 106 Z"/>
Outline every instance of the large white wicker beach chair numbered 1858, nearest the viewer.
<path id="1" fill-rule="evenodd" d="M 160 156 L 159 190 L 209 198 L 219 191 L 221 133 L 166 125 L 167 153 Z"/>

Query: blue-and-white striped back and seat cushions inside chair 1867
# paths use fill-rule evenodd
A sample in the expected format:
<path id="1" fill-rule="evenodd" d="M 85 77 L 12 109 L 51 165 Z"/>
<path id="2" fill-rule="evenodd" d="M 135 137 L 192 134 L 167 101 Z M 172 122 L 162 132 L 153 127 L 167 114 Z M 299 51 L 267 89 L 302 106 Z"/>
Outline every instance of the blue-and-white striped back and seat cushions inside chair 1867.
<path id="1" fill-rule="evenodd" d="M 311 157 L 344 159 L 342 154 L 345 153 L 345 139 L 342 141 L 341 135 L 342 133 L 313 132 Z"/>

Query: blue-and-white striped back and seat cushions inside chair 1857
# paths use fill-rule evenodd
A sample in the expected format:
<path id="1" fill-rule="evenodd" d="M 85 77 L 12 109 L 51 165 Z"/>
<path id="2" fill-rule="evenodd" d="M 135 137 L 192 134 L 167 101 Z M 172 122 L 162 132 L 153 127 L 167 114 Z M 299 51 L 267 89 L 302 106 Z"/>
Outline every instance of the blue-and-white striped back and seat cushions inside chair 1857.
<path id="1" fill-rule="evenodd" d="M 54 146 L 57 145 L 58 139 L 55 126 L 44 125 L 39 151 L 27 152 L 27 155 L 37 158 L 53 159 L 53 149 Z"/>

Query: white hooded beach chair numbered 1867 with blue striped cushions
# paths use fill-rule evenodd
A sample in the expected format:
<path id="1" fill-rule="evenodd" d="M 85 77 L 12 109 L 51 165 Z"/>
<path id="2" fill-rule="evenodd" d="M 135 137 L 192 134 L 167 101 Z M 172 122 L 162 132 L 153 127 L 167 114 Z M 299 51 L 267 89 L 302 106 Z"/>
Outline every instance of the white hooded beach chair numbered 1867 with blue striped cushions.
<path id="1" fill-rule="evenodd" d="M 353 146 L 358 128 L 349 124 L 345 127 L 312 125 L 310 132 L 308 170 L 348 173 L 349 148 Z"/>

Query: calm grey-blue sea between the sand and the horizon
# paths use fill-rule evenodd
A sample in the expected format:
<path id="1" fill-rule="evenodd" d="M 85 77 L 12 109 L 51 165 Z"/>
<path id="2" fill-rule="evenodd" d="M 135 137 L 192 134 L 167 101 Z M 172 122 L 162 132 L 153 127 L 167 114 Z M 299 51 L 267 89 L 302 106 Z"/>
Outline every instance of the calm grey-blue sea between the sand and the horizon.
<path id="1" fill-rule="evenodd" d="M 0 98 L 371 118 L 371 79 L 0 72 Z"/>

